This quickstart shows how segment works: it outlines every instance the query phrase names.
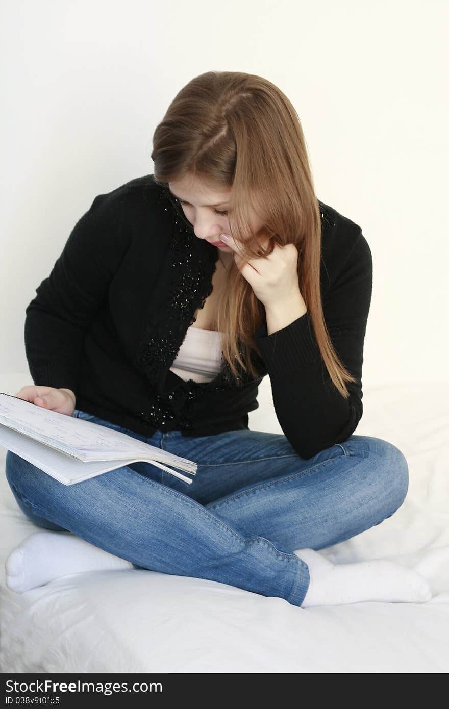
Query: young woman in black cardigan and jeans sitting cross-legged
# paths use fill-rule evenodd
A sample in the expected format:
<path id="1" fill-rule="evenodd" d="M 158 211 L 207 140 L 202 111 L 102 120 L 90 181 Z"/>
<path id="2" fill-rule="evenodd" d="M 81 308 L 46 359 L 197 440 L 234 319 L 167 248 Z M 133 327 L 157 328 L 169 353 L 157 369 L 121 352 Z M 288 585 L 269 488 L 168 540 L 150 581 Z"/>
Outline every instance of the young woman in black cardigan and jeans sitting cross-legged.
<path id="1" fill-rule="evenodd" d="M 9 588 L 129 568 L 303 607 L 428 601 L 415 570 L 317 551 L 389 518 L 409 477 L 397 447 L 354 435 L 371 252 L 314 194 L 294 107 L 261 77 L 206 72 L 151 157 L 154 174 L 96 196 L 36 289 L 34 385 L 16 396 L 198 469 L 192 484 L 135 463 L 65 486 L 9 451 L 18 506 L 45 530 L 9 555 Z M 282 435 L 248 428 L 266 374 Z"/>

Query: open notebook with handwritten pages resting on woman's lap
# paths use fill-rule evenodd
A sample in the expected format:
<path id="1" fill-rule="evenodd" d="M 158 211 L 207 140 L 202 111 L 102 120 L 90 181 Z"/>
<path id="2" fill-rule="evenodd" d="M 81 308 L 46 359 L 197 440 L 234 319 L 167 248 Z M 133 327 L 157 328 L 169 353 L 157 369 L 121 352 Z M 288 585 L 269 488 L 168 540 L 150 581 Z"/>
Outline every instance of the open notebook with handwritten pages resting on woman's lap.
<path id="1" fill-rule="evenodd" d="M 144 461 L 192 484 L 167 467 L 196 474 L 197 464 L 93 421 L 48 411 L 0 393 L 0 445 L 65 485 Z"/>

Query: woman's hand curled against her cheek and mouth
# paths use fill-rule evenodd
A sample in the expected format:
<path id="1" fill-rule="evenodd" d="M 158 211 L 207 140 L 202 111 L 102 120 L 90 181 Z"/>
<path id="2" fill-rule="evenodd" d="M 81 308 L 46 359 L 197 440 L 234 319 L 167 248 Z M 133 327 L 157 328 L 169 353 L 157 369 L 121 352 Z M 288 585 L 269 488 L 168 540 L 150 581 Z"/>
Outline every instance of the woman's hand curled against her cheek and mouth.
<path id="1" fill-rule="evenodd" d="M 234 261 L 238 270 L 265 308 L 279 308 L 283 304 L 291 303 L 298 295 L 302 299 L 296 270 L 298 250 L 294 244 L 279 246 L 275 243 L 275 248 L 267 257 L 245 262 L 232 236 L 228 234 L 226 236 L 229 238 L 226 245 L 234 252 Z M 268 239 L 265 239 L 265 242 L 260 240 L 264 248 L 267 247 L 268 242 Z"/>

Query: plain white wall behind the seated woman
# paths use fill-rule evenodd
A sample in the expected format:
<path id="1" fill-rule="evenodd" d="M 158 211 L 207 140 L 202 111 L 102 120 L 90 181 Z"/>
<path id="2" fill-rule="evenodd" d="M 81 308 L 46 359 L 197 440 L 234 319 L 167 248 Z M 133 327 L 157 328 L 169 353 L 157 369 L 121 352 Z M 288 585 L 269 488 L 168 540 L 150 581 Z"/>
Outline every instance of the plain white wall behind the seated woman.
<path id="1" fill-rule="evenodd" d="M 318 198 L 370 244 L 364 386 L 449 381 L 447 2 L 10 0 L 0 24 L 1 380 L 32 383 L 25 308 L 79 217 L 228 70 L 288 96 Z"/>

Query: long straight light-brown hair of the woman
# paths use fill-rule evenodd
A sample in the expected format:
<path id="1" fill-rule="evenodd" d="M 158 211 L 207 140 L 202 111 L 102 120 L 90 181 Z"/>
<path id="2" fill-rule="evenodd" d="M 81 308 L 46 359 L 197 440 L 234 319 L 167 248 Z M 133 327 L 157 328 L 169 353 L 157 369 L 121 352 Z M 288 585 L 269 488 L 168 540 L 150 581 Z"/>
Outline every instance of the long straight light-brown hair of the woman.
<path id="1" fill-rule="evenodd" d="M 243 72 L 206 72 L 174 97 L 153 135 L 154 178 L 194 177 L 211 189 L 231 189 L 229 226 L 245 259 L 269 255 L 277 242 L 298 249 L 301 295 L 323 362 L 344 398 L 357 381 L 338 358 L 321 304 L 321 216 L 299 117 L 287 96 L 267 79 Z M 251 206 L 264 227 L 251 232 Z M 257 241 L 270 238 L 265 250 Z M 218 303 L 216 329 L 235 379 L 235 360 L 257 376 L 251 351 L 265 308 L 232 260 L 228 288 Z M 239 347 L 243 345 L 240 357 Z"/>

